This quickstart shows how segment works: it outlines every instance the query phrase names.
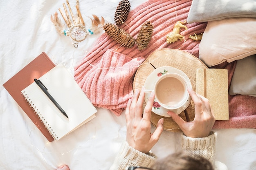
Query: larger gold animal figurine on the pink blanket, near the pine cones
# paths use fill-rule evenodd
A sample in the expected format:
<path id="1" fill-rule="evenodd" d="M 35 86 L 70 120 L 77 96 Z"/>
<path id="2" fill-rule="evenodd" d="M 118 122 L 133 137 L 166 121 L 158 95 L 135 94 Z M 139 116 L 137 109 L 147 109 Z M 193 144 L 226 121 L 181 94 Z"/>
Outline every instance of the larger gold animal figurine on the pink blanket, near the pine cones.
<path id="1" fill-rule="evenodd" d="M 171 33 L 168 33 L 168 35 L 166 36 L 166 42 L 168 44 L 171 44 L 178 40 L 182 41 L 184 39 L 184 36 L 180 35 L 180 30 L 181 28 L 184 28 L 185 30 L 188 29 L 185 25 L 183 25 L 185 23 L 186 23 L 186 20 L 184 20 L 184 22 L 181 22 L 181 21 L 176 22 L 176 24 L 173 27 L 173 31 Z"/>

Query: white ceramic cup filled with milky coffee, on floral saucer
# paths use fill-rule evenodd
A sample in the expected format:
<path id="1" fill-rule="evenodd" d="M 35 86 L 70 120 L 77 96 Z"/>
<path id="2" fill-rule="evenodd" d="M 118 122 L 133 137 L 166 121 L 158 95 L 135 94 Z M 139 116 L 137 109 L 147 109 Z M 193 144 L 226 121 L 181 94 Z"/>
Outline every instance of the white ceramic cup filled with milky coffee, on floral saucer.
<path id="1" fill-rule="evenodd" d="M 191 97 L 187 91 L 189 83 L 177 73 L 166 73 L 155 82 L 153 90 L 157 103 L 168 110 L 177 110 L 188 105 Z M 190 103 L 190 102 L 189 102 Z M 187 106 L 186 106 L 187 107 Z M 177 113 L 179 114 L 179 113 Z"/>

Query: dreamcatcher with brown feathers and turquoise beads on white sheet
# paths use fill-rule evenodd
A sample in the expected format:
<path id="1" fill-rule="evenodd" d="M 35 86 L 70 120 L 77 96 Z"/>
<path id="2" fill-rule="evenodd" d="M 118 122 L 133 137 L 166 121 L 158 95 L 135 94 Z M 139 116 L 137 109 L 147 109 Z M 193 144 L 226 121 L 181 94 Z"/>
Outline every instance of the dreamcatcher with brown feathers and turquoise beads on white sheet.
<path id="1" fill-rule="evenodd" d="M 99 17 L 97 17 L 96 15 L 92 15 L 93 18 L 90 18 L 92 21 L 92 25 L 91 25 L 90 29 L 86 29 L 85 22 L 83 20 L 80 10 L 79 10 L 78 0 L 76 0 L 76 12 L 77 12 L 76 18 L 72 12 L 72 9 L 70 7 L 68 0 L 66 0 L 66 2 L 67 2 L 67 7 L 70 11 L 72 20 L 67 11 L 67 7 L 66 7 L 65 3 L 63 3 L 63 8 L 64 8 L 65 13 L 63 13 L 61 8 L 59 8 L 58 10 L 61 13 L 61 15 L 66 23 L 66 26 L 68 28 L 66 29 L 65 23 L 63 23 L 61 21 L 61 19 L 58 17 L 57 12 L 55 12 L 54 15 L 51 16 L 51 20 L 52 20 L 57 32 L 60 33 L 61 35 L 69 36 L 72 40 L 75 41 L 73 43 L 73 45 L 74 45 L 74 47 L 77 48 L 78 43 L 85 40 L 87 35 L 99 33 L 101 31 L 101 27 L 105 23 L 105 20 L 103 17 L 101 17 L 101 20 L 100 20 Z"/>

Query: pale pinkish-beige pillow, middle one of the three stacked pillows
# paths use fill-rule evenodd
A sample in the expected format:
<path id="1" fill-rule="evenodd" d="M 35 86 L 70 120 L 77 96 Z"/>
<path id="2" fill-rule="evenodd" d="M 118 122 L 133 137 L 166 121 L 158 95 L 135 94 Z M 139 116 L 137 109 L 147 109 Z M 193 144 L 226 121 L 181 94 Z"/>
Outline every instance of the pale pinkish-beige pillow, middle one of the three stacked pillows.
<path id="1" fill-rule="evenodd" d="M 256 18 L 209 21 L 199 45 L 199 58 L 207 66 L 233 62 L 256 54 Z"/>

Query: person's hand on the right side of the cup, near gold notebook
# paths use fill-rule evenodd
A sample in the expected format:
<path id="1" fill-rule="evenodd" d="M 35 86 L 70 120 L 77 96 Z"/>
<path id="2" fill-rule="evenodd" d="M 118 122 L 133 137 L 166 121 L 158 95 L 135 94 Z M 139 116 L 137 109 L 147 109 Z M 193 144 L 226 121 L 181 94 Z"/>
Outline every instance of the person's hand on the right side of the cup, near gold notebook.
<path id="1" fill-rule="evenodd" d="M 195 104 L 194 120 L 186 122 L 172 111 L 167 113 L 171 115 L 173 121 L 180 126 L 187 137 L 207 137 L 215 122 L 209 100 L 202 95 L 198 95 L 191 88 L 188 88 L 188 92 Z"/>

